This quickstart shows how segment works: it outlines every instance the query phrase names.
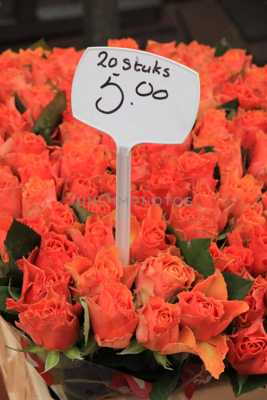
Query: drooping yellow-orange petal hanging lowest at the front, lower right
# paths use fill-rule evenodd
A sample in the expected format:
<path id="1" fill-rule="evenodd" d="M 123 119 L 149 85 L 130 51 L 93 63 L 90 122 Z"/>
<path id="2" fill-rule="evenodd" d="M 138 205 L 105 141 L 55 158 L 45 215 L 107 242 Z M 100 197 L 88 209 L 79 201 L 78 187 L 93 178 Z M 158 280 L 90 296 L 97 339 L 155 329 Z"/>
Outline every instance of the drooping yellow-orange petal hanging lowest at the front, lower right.
<path id="1" fill-rule="evenodd" d="M 207 371 L 216 379 L 219 379 L 224 371 L 223 360 L 228 352 L 226 336 L 212 336 L 209 340 L 196 340 L 199 356 Z"/>

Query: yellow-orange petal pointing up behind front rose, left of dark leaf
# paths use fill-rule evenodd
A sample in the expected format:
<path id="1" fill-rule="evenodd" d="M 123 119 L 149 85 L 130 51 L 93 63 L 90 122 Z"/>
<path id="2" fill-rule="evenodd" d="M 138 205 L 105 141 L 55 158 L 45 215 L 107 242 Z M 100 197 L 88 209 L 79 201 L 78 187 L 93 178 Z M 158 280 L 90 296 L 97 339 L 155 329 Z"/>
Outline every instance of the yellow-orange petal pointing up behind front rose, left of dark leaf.
<path id="1" fill-rule="evenodd" d="M 213 297 L 216 300 L 227 300 L 227 288 L 220 270 L 215 269 L 213 275 L 207 277 L 192 289 L 192 292 L 202 292 L 206 297 Z"/>

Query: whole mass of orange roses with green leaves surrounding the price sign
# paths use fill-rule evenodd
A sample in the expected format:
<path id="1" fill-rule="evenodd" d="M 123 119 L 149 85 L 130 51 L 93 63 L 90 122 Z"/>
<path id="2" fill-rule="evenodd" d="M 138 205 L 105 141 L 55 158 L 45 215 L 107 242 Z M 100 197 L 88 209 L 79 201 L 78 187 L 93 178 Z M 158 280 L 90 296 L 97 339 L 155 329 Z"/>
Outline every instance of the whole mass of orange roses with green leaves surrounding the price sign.
<path id="1" fill-rule="evenodd" d="M 0 55 L 0 312 L 45 372 L 78 360 L 163 400 L 225 371 L 238 396 L 267 384 L 267 66 L 225 40 L 146 50 L 196 70 L 201 100 L 185 143 L 132 149 L 128 265 L 115 143 L 71 112 L 83 51 Z"/>

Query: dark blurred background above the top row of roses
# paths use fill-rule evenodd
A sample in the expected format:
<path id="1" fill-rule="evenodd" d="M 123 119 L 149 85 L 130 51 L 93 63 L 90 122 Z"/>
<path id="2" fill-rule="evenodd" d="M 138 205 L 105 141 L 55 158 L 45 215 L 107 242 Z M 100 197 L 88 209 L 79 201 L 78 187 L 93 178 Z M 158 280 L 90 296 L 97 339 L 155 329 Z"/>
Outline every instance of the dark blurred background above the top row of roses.
<path id="1" fill-rule="evenodd" d="M 105 46 L 134 38 L 214 46 L 221 38 L 267 63 L 267 0 L 0 0 L 0 51 L 44 38 L 50 46 Z"/>

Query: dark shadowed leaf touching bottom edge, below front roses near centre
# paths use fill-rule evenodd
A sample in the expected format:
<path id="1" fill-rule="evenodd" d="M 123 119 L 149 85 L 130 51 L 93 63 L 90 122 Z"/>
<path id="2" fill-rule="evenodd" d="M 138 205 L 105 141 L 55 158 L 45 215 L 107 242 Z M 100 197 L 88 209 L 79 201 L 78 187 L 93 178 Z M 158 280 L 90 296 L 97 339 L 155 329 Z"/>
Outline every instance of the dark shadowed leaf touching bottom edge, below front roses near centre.
<path id="1" fill-rule="evenodd" d="M 180 379 L 180 375 L 180 369 L 164 371 L 152 386 L 149 394 L 150 400 L 167 400 Z"/>

